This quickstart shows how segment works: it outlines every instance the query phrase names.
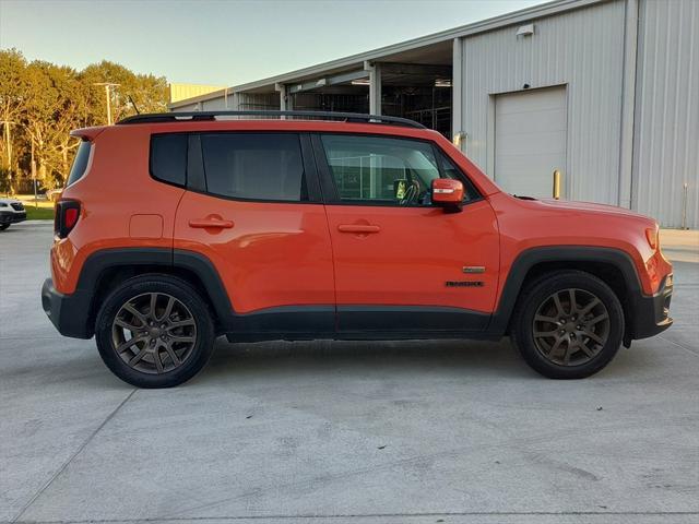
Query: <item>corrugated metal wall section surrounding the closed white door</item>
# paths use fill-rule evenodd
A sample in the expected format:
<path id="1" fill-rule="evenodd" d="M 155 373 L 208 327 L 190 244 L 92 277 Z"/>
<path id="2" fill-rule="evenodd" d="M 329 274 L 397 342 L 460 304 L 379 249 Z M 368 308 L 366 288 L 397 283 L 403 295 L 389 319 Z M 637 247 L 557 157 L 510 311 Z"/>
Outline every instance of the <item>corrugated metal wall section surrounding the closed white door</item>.
<path id="1" fill-rule="evenodd" d="M 497 93 L 567 85 L 566 198 L 616 204 L 624 63 L 623 0 L 532 20 L 462 40 L 464 152 L 493 175 Z"/>

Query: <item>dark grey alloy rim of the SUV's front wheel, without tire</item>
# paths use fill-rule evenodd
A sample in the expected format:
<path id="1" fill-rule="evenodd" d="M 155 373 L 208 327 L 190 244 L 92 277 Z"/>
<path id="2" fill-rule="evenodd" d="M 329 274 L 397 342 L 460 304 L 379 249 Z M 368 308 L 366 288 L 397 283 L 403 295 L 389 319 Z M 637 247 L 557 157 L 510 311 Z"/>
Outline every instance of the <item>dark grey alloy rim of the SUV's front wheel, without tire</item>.
<path id="1" fill-rule="evenodd" d="M 599 297 L 584 289 L 566 288 L 538 306 L 532 333 L 545 359 L 558 366 L 581 366 L 605 347 L 609 325 L 609 313 Z"/>

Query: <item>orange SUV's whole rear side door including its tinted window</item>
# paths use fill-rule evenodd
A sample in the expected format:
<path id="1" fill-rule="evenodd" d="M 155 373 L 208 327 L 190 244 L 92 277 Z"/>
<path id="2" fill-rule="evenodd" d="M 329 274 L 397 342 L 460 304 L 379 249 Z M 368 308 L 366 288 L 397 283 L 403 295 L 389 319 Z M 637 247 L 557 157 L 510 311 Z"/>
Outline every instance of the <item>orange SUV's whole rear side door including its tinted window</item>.
<path id="1" fill-rule="evenodd" d="M 175 250 L 206 257 L 237 333 L 334 332 L 330 235 L 310 140 L 288 132 L 189 135 Z"/>

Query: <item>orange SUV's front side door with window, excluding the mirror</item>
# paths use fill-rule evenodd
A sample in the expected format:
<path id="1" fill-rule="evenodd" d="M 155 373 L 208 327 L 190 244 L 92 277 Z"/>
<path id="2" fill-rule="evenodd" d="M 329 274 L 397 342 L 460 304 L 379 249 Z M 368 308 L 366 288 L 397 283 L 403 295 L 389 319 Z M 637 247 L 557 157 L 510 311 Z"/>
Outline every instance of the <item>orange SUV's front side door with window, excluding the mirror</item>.
<path id="1" fill-rule="evenodd" d="M 343 336 L 483 330 L 497 287 L 495 214 L 448 156 L 430 142 L 377 135 L 313 144 Z M 439 177 L 464 182 L 461 213 L 431 205 Z"/>

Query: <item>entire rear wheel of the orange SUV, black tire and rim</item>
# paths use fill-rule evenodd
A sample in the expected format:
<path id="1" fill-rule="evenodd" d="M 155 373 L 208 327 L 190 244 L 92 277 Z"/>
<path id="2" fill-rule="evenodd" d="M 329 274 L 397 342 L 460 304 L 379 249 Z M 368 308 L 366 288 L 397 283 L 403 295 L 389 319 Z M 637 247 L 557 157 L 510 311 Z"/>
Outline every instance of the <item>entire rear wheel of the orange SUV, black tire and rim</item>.
<path id="1" fill-rule="evenodd" d="M 155 300 L 162 307 L 163 318 L 174 319 L 173 324 L 181 324 L 182 321 L 179 321 L 180 317 L 178 317 L 180 313 L 177 312 L 177 308 L 179 308 L 185 312 L 181 318 L 187 318 L 188 325 L 186 327 L 167 327 L 175 331 L 159 330 L 159 325 L 149 329 L 145 322 L 139 320 L 141 317 L 137 318 L 137 315 L 133 315 L 129 322 L 134 325 L 138 324 L 139 330 L 142 331 L 132 332 L 123 330 L 121 325 L 117 325 L 117 314 L 122 315 L 123 311 L 130 311 L 130 309 L 125 309 L 125 306 L 129 305 L 132 309 L 133 305 L 138 303 L 134 300 L 142 300 L 144 299 L 142 297 L 151 297 L 153 295 L 156 296 Z M 175 299 L 174 307 L 169 306 L 170 297 Z M 165 307 L 163 305 L 173 308 L 167 311 L 174 312 L 164 312 Z M 155 310 L 157 317 L 157 308 Z M 140 311 L 145 311 L 144 314 L 146 315 L 150 314 L 150 308 L 147 307 L 141 308 Z M 187 314 L 190 317 L 187 317 Z M 122 318 L 120 317 L 119 320 L 122 320 Z M 155 323 L 158 324 L 161 321 L 158 320 Z M 152 330 L 164 334 L 153 335 Z M 181 331 L 179 330 L 190 331 L 180 335 Z M 129 338 L 126 338 L 126 333 L 130 334 Z M 137 333 L 141 334 L 137 336 Z M 161 342 L 161 340 L 168 338 L 168 334 L 174 335 L 169 336 L 169 338 L 179 336 L 179 338 L 185 340 L 185 336 L 187 336 L 188 338 L 193 338 L 193 342 L 189 340 L 187 343 L 170 341 L 167 344 L 166 352 L 166 343 Z M 135 337 L 132 340 L 138 338 L 139 342 L 132 344 L 128 349 L 117 353 L 117 347 L 126 345 L 125 340 L 126 342 L 131 342 L 130 337 Z M 150 389 L 171 388 L 194 377 L 204 367 L 213 352 L 215 334 L 209 307 L 192 286 L 181 278 L 169 275 L 146 274 L 123 282 L 104 300 L 97 313 L 95 338 L 99 356 L 117 377 L 137 388 Z M 146 347 L 153 345 L 156 345 L 155 348 Z M 169 357 L 173 347 L 176 354 L 179 352 L 179 358 L 181 358 L 179 364 L 177 364 L 177 355 Z M 131 353 L 129 354 L 128 352 Z M 142 352 L 145 352 L 145 355 L 141 357 L 140 361 L 130 366 L 130 362 Z M 182 352 L 186 352 L 186 356 Z M 125 354 L 127 355 L 125 356 Z M 149 359 L 152 360 L 152 366 Z M 155 370 L 146 369 L 149 366 L 155 368 L 155 360 L 159 362 L 159 368 Z M 171 369 L 163 369 L 164 360 L 169 362 Z"/>

